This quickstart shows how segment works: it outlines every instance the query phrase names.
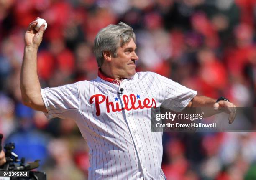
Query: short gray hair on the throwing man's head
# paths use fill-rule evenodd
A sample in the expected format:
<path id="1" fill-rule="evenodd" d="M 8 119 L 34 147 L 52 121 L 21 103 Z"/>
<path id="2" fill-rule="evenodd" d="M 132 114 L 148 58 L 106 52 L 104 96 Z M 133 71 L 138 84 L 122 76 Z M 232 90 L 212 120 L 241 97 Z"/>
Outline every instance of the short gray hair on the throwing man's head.
<path id="1" fill-rule="evenodd" d="M 101 67 L 104 62 L 104 51 L 110 51 L 110 53 L 116 57 L 117 49 L 128 43 L 131 38 L 136 42 L 133 28 L 123 22 L 120 22 L 117 25 L 110 24 L 101 29 L 94 39 L 93 47 L 98 66 Z"/>

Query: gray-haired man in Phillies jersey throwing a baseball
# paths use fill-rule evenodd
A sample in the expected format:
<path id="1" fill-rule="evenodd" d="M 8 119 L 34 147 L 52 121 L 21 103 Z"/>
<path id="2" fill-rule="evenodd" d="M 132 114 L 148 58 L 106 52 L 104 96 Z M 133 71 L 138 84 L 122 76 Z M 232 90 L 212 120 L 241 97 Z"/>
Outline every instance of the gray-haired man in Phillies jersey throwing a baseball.
<path id="1" fill-rule="evenodd" d="M 152 72 L 135 71 L 136 36 L 125 23 L 100 30 L 94 42 L 98 77 L 41 89 L 36 54 L 44 33 L 31 22 L 25 33 L 20 74 L 23 103 L 48 118 L 76 121 L 90 147 L 89 179 L 165 179 L 161 170 L 162 133 L 152 133 L 151 107 L 234 107 Z M 229 122 L 235 113 L 230 111 Z"/>

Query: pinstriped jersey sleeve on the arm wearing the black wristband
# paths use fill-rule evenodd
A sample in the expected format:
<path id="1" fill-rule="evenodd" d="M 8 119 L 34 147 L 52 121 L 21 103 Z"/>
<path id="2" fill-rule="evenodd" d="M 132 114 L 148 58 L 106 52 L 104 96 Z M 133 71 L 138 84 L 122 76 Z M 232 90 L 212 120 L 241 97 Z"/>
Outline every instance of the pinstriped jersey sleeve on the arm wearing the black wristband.
<path id="1" fill-rule="evenodd" d="M 163 88 L 164 101 L 161 106 L 173 111 L 182 111 L 197 95 L 197 91 L 189 89 L 164 76 L 158 75 Z"/>

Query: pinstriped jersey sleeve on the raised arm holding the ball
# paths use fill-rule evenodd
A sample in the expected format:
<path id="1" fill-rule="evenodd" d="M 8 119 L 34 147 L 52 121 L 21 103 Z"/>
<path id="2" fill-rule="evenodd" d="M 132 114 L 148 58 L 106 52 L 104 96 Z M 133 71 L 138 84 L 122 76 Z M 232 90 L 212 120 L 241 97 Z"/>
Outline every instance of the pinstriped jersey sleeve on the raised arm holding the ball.
<path id="1" fill-rule="evenodd" d="M 67 84 L 54 88 L 41 89 L 41 95 L 46 106 L 48 119 L 59 117 L 73 118 L 79 111 L 78 84 Z"/>

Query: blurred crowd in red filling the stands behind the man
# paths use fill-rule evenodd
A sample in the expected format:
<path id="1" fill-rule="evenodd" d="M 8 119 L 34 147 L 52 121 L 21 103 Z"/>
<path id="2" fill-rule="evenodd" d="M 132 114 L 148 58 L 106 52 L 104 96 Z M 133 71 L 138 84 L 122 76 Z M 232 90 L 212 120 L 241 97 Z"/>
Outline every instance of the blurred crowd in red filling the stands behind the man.
<path id="1" fill-rule="evenodd" d="M 137 71 L 154 71 L 200 95 L 256 105 L 256 0 L 0 0 L 0 132 L 48 180 L 87 179 L 88 147 L 72 119 L 47 120 L 21 103 L 23 36 L 48 28 L 38 50 L 41 86 L 97 77 L 93 40 L 120 21 L 137 37 Z M 164 133 L 168 180 L 255 180 L 255 133 Z"/>

